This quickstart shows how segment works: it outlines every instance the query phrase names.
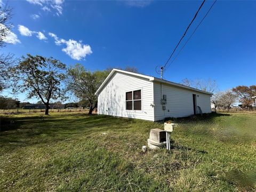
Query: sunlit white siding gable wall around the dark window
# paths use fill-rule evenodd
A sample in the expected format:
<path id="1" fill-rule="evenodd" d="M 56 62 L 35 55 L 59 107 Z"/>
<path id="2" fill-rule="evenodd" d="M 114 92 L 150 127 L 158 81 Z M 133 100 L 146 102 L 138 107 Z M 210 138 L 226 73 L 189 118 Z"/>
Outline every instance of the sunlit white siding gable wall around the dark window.
<path id="1" fill-rule="evenodd" d="M 126 110 L 125 92 L 135 90 L 141 90 L 141 111 Z M 98 95 L 98 114 L 154 121 L 153 101 L 153 82 L 116 72 Z"/>

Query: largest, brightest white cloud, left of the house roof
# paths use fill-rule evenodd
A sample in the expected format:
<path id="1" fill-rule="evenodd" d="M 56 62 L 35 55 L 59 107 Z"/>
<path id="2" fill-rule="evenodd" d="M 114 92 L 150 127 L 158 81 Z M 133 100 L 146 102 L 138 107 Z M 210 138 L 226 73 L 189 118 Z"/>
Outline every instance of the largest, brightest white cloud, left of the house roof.
<path id="1" fill-rule="evenodd" d="M 68 39 L 68 41 L 66 41 L 53 33 L 49 33 L 49 35 L 54 38 L 56 45 L 66 45 L 62 51 L 69 55 L 72 59 L 81 60 L 84 59 L 86 55 L 90 55 L 92 53 L 91 46 L 82 44 L 82 41 L 77 42 L 73 39 Z"/>

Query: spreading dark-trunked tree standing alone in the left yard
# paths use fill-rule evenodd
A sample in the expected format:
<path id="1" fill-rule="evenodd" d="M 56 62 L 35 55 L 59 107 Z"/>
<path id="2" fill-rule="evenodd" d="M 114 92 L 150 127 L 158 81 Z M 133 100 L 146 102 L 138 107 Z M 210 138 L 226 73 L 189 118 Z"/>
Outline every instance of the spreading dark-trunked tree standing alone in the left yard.
<path id="1" fill-rule="evenodd" d="M 27 92 L 28 98 L 36 97 L 45 105 L 49 114 L 50 100 L 64 98 L 61 81 L 65 78 L 66 65 L 57 59 L 40 55 L 22 57 L 14 69 L 15 91 Z"/>

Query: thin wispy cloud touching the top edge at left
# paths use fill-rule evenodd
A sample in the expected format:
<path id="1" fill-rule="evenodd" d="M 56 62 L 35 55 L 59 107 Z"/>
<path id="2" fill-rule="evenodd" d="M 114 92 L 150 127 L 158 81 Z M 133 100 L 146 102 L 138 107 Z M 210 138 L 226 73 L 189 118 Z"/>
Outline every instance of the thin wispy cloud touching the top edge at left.
<path id="1" fill-rule="evenodd" d="M 27 0 L 27 2 L 41 6 L 44 11 L 51 11 L 51 7 L 56 11 L 57 15 L 60 15 L 62 14 L 62 5 L 64 0 Z"/>

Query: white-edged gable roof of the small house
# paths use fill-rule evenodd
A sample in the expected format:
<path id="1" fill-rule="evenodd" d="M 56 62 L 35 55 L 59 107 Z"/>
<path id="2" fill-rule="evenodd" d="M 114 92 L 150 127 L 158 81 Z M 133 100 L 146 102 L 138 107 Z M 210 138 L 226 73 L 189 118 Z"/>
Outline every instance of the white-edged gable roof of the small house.
<path id="1" fill-rule="evenodd" d="M 193 90 L 193 91 L 197 91 L 197 92 L 201 92 L 201 93 L 205 93 L 205 94 L 210 94 L 210 95 L 213 94 L 213 93 L 206 92 L 206 91 L 202 91 L 202 90 L 198 90 L 198 89 L 195 89 L 195 88 L 193 88 L 193 87 L 186 86 L 186 85 L 181 85 L 181 84 L 179 84 L 179 83 L 174 83 L 174 82 L 166 81 L 166 80 L 161 79 L 161 78 L 157 78 L 157 77 L 153 77 L 153 76 L 148 76 L 148 75 L 142 75 L 142 74 L 133 73 L 133 72 L 130 72 L 130 71 L 125 71 L 125 70 L 120 70 L 120 69 L 113 69 L 113 70 L 110 72 L 110 74 L 107 76 L 107 78 L 105 79 L 105 81 L 100 85 L 99 89 L 96 91 L 95 94 L 98 94 L 98 93 L 101 91 L 101 89 L 107 84 L 108 80 L 109 80 L 116 72 L 123 73 L 123 74 L 127 74 L 127 75 L 132 75 L 132 76 L 135 76 L 135 77 L 142 77 L 142 78 L 148 79 L 148 81 L 151 81 L 151 82 L 165 83 L 165 84 L 168 84 L 168 85 L 178 86 L 178 87 L 182 87 L 182 88 L 184 88 L 184 89 Z"/>

